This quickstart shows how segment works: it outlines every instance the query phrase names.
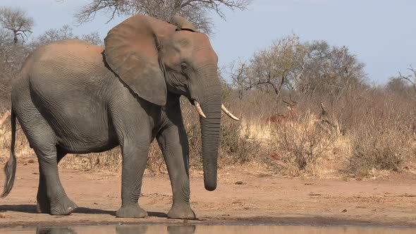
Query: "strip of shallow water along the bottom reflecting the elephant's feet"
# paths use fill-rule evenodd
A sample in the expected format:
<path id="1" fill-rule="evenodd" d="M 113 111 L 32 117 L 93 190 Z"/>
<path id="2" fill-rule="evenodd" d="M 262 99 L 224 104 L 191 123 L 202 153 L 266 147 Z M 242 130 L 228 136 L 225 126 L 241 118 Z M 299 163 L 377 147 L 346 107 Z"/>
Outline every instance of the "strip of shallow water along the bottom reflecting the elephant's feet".
<path id="1" fill-rule="evenodd" d="M 251 233 L 308 233 L 308 234 L 391 234 L 391 233 L 416 233 L 416 228 L 397 228 L 397 227 L 374 227 L 374 226 L 341 226 L 341 227 L 319 227 L 319 226 L 238 226 L 238 225 L 97 225 L 97 226 L 71 226 L 71 227 L 37 227 L 37 228 L 6 228 L 1 229 L 0 233 L 23 234 L 75 234 L 75 233 L 117 233 L 117 234 L 149 234 L 149 233 L 167 233 L 167 234 L 251 234 Z"/>

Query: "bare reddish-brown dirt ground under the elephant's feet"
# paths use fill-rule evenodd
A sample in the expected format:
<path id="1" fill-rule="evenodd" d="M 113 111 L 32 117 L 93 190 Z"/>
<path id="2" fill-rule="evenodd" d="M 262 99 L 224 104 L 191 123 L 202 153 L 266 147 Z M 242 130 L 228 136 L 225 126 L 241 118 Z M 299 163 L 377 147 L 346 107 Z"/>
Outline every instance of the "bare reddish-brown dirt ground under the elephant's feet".
<path id="1" fill-rule="evenodd" d="M 18 164 L 13 190 L 0 200 L 0 227 L 87 223 L 266 223 L 302 225 L 416 226 L 416 176 L 345 180 L 283 178 L 248 173 L 250 168 L 219 171 L 219 186 L 204 190 L 202 173 L 192 173 L 195 221 L 166 218 L 171 207 L 167 174 L 145 176 L 140 205 L 147 218 L 116 218 L 121 176 L 61 169 L 68 196 L 80 207 L 70 216 L 36 214 L 37 162 Z M 1 173 L 0 180 L 4 181 Z M 2 182 L 1 182 L 2 183 Z M 4 217 L 5 216 L 5 217 Z"/>

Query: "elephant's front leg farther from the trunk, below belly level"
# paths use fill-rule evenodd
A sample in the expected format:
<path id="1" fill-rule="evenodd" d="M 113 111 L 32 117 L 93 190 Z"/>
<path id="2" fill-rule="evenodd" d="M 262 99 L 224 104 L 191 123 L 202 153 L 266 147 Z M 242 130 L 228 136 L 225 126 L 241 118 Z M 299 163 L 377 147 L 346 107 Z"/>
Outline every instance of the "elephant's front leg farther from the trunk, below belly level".
<path id="1" fill-rule="evenodd" d="M 123 169 L 121 175 L 122 204 L 116 212 L 118 218 L 145 218 L 147 212 L 138 204 L 142 190 L 142 178 L 145 172 L 149 142 L 137 146 L 137 142 L 122 146 Z"/>

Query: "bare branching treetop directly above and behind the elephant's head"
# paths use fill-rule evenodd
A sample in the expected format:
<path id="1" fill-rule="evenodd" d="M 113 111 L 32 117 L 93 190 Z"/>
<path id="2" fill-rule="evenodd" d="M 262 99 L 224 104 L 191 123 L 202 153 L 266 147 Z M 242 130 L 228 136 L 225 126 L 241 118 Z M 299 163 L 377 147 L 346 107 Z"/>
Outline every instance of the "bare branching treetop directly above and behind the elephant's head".
<path id="1" fill-rule="evenodd" d="M 63 0 L 58 0 L 63 1 Z M 93 20 L 96 13 L 104 11 L 109 21 L 116 16 L 133 16 L 137 13 L 168 21 L 171 16 L 183 16 L 197 29 L 212 34 L 213 22 L 209 11 L 215 11 L 225 18 L 222 6 L 232 10 L 245 10 L 252 0 L 94 0 L 82 6 L 75 14 L 78 23 Z"/>

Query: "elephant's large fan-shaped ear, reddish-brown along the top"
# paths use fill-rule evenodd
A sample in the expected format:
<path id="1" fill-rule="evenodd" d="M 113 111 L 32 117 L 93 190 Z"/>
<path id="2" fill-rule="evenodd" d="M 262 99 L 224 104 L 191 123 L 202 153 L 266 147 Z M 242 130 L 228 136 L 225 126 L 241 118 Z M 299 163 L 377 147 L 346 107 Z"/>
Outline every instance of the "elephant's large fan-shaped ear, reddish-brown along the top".
<path id="1" fill-rule="evenodd" d="M 166 82 L 159 66 L 159 36 L 173 25 L 148 16 L 133 16 L 109 31 L 104 39 L 105 60 L 139 97 L 166 104 Z"/>

